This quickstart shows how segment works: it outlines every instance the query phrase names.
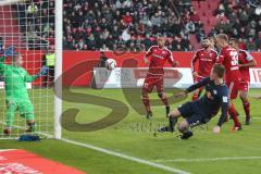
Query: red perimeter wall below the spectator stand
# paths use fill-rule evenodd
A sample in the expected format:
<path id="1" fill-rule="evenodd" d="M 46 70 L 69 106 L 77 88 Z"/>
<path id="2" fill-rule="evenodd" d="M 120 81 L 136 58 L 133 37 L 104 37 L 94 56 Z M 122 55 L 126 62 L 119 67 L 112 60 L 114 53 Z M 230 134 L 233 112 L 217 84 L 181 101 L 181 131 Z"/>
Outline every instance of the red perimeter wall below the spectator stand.
<path id="1" fill-rule="evenodd" d="M 42 51 L 22 51 L 24 54 L 26 64 L 25 69 L 29 72 L 29 74 L 35 74 L 39 71 L 41 66 L 41 59 L 44 55 Z M 116 60 L 117 66 L 122 66 L 123 61 L 127 59 L 133 59 L 138 62 L 139 67 L 146 66 L 144 63 L 144 54 L 145 52 L 139 53 L 115 53 L 115 52 L 105 52 L 105 55 L 108 58 L 112 58 Z M 253 52 L 251 53 L 256 60 L 258 61 L 258 67 L 261 67 L 261 53 L 260 52 Z M 176 61 L 179 62 L 178 67 L 190 67 L 190 61 L 194 55 L 194 52 L 173 52 L 173 57 Z M 63 72 L 74 67 L 76 64 L 87 61 L 87 60 L 99 60 L 100 59 L 100 52 L 99 51 L 63 51 Z M 133 64 L 128 64 L 128 67 L 134 66 Z M 170 66 L 169 63 L 166 63 L 166 66 Z M 73 73 L 73 72 L 72 72 Z M 89 86 L 91 79 L 91 73 L 85 73 L 77 79 L 75 79 L 73 86 Z M 35 82 L 36 85 L 39 83 L 39 80 Z M 69 86 L 70 82 L 66 77 L 63 78 L 63 85 Z"/>

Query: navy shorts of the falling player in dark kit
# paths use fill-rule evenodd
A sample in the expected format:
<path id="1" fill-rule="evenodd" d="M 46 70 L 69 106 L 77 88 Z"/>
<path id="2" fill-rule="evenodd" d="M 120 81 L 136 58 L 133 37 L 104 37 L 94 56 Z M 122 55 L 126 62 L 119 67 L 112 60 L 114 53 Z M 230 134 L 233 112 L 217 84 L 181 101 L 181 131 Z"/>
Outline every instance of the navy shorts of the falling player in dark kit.
<path id="1" fill-rule="evenodd" d="M 186 102 L 177 108 L 182 116 L 186 119 L 190 126 L 198 126 L 209 122 L 209 116 L 200 110 L 200 105 L 195 102 Z"/>

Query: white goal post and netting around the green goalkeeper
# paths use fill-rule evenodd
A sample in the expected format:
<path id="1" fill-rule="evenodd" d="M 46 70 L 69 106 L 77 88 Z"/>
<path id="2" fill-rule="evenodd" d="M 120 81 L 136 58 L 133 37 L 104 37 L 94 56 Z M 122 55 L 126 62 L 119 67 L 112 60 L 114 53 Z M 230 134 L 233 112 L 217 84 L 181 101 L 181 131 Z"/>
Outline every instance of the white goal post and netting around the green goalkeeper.
<path id="1" fill-rule="evenodd" d="M 4 69 L 2 69 L 3 66 L 0 69 L 0 139 L 17 138 L 24 134 L 24 130 L 28 127 L 27 113 L 34 114 L 36 121 L 35 133 L 57 139 L 62 136 L 62 82 L 55 80 L 62 79 L 62 0 L 0 1 L 0 58 L 5 59 L 2 63 Z M 7 111 L 9 111 L 10 100 L 8 100 L 8 97 L 10 96 L 7 94 L 5 85 L 8 79 L 15 79 L 15 74 L 12 76 L 13 74 L 9 71 L 8 76 L 5 67 L 16 69 L 13 67 L 12 57 L 5 55 L 3 51 L 11 46 L 15 48 L 15 52 L 22 54 L 24 59 L 23 69 L 29 75 L 37 74 L 44 65 L 51 69 L 48 71 L 47 78 L 41 76 L 36 80 L 25 83 L 33 110 L 30 105 L 25 107 L 22 104 L 23 102 L 16 101 L 16 99 L 12 101 L 16 104 L 16 108 L 12 133 L 7 136 L 3 129 L 9 124 Z M 50 54 L 54 55 L 53 64 L 47 60 L 47 55 Z M 21 112 L 21 108 L 24 108 L 23 112 Z"/>

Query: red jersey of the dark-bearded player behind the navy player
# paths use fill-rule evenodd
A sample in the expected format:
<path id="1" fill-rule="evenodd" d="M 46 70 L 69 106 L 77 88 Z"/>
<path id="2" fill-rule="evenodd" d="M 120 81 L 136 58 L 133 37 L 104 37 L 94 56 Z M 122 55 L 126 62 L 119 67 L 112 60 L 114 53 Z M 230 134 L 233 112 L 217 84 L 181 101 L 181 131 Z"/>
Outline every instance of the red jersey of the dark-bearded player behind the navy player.
<path id="1" fill-rule="evenodd" d="M 196 69 L 196 62 L 198 61 L 198 69 Z M 217 61 L 217 52 L 213 49 L 207 51 L 204 49 L 198 50 L 191 61 L 192 72 L 197 72 L 201 77 L 208 77 L 211 69 Z"/>

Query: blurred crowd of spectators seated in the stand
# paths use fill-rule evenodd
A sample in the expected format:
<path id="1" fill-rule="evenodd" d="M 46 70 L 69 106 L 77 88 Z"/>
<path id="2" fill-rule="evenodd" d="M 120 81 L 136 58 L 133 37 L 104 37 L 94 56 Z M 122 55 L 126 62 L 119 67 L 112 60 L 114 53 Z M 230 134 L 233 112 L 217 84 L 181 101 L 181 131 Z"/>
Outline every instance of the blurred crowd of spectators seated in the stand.
<path id="1" fill-rule="evenodd" d="M 15 5 L 32 49 L 54 44 L 53 1 Z M 244 42 L 243 48 L 261 51 L 261 7 L 241 0 L 220 1 L 213 11 L 217 24 L 209 34 L 191 0 L 64 0 L 63 5 L 63 49 L 145 51 L 164 35 L 170 50 L 194 51 L 191 35 L 200 42 L 225 33 Z"/>

